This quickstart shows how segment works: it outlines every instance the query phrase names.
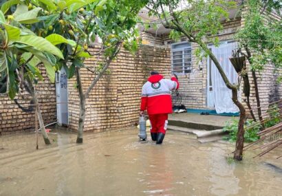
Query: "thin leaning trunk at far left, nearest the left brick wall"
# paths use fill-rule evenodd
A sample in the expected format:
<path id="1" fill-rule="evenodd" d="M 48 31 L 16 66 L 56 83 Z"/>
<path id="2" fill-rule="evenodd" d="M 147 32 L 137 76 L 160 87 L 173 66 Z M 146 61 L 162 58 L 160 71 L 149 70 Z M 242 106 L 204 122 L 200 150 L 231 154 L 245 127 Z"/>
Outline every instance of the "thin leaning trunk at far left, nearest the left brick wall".
<path id="1" fill-rule="evenodd" d="M 45 126 L 44 126 L 44 121 L 43 121 L 43 118 L 42 118 L 42 114 L 41 114 L 41 111 L 40 111 L 40 107 L 39 107 L 39 100 L 37 99 L 37 96 L 36 96 L 36 92 L 34 90 L 34 87 L 32 85 L 32 82 L 28 79 L 27 80 L 27 84 L 28 84 L 28 89 L 30 89 L 30 93 L 31 93 L 31 96 L 34 100 L 34 105 L 36 107 L 36 110 L 37 110 L 37 117 L 38 117 L 38 120 L 39 120 L 39 126 L 40 126 L 40 129 L 41 129 L 41 133 L 43 135 L 43 139 L 44 139 L 44 142 L 45 144 L 51 144 L 49 138 L 48 138 L 48 135 L 46 133 L 46 130 L 45 130 Z"/>

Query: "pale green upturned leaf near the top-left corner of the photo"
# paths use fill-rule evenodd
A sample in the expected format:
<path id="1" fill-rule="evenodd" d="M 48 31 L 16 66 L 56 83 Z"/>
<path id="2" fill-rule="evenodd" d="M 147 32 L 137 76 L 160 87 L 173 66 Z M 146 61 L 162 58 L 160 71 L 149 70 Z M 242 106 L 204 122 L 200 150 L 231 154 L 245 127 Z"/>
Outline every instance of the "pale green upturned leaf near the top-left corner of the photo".
<path id="1" fill-rule="evenodd" d="M 26 12 L 26 8 L 28 7 L 24 5 L 18 6 L 16 12 L 14 12 L 14 20 L 23 24 L 32 24 L 38 22 L 39 19 L 37 19 L 37 14 L 41 8 L 34 8 L 28 12 Z"/>

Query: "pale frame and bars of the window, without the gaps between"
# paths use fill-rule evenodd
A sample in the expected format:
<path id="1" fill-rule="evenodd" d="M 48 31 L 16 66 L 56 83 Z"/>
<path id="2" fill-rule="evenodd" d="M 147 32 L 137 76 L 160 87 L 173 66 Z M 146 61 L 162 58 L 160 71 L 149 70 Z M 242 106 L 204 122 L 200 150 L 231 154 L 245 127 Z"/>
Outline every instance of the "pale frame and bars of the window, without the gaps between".
<path id="1" fill-rule="evenodd" d="M 186 43 L 187 45 L 184 45 L 182 47 L 179 48 L 173 48 L 176 45 L 183 45 L 184 43 Z M 190 53 L 185 53 L 185 50 L 191 50 Z M 182 54 L 175 54 L 173 55 L 174 52 L 182 52 Z M 185 55 L 190 54 L 191 57 L 190 58 L 185 58 Z M 173 56 L 180 56 L 182 55 L 182 58 L 173 58 Z M 186 59 L 191 59 L 191 61 L 185 62 Z M 173 61 L 175 60 L 182 60 L 182 63 L 173 63 Z M 177 43 L 172 43 L 171 44 L 171 73 L 172 74 L 176 74 L 176 75 L 186 75 L 186 74 L 190 74 L 192 72 L 192 61 L 193 61 L 193 54 L 192 54 L 192 44 L 188 41 L 180 41 Z M 175 64 L 182 64 L 181 72 L 180 69 L 177 67 L 177 69 L 175 70 Z M 190 64 L 190 65 L 186 65 L 186 64 Z M 190 69 L 185 69 L 186 67 L 189 67 Z M 188 72 L 186 72 L 188 70 Z"/>

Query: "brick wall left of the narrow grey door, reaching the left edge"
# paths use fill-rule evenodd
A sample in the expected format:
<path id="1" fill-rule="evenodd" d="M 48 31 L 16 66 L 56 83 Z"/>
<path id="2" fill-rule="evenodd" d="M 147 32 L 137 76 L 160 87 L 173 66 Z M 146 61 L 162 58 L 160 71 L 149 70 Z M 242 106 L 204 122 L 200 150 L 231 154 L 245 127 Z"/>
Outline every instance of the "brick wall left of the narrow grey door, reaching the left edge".
<path id="1" fill-rule="evenodd" d="M 41 112 L 45 124 L 56 121 L 56 89 L 50 83 L 45 69 L 40 67 L 44 80 L 36 86 Z M 27 91 L 21 92 L 14 100 L 6 95 L 0 95 L 0 132 L 31 131 L 34 130 L 34 107 L 30 106 L 31 96 Z M 23 109 L 21 109 L 21 107 Z"/>

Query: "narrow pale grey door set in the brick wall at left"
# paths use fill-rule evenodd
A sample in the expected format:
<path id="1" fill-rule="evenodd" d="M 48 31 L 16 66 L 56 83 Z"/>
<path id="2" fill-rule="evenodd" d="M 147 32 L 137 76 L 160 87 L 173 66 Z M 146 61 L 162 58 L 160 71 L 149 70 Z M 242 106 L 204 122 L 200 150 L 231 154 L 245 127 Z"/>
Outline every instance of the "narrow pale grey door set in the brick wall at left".
<path id="1" fill-rule="evenodd" d="M 63 67 L 60 72 L 56 72 L 56 101 L 58 124 L 69 124 L 67 73 Z"/>

